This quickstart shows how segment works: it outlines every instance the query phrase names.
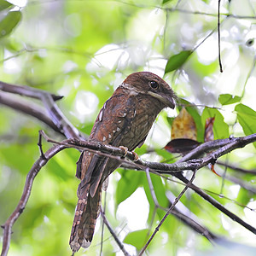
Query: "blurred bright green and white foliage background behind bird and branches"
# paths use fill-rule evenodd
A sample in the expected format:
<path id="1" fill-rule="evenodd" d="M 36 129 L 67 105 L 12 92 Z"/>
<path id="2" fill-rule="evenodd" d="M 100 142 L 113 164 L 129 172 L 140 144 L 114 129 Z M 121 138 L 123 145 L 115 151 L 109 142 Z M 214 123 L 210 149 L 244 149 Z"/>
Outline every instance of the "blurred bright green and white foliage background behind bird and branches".
<path id="1" fill-rule="evenodd" d="M 1 80 L 65 96 L 58 106 L 84 134 L 90 134 L 98 110 L 126 75 L 143 70 L 165 75 L 166 82 L 180 97 L 178 103 L 195 119 L 198 141 L 203 141 L 208 117 L 215 117 L 215 139 L 256 132 L 255 45 L 247 44 L 248 40 L 253 42 L 255 25 L 246 18 L 255 16 L 254 1 L 221 3 L 224 65 L 221 74 L 216 33 L 218 6 L 214 0 L 28 0 L 18 4 L 20 6 L 0 0 Z M 20 97 L 15 99 L 19 101 Z M 27 100 L 28 104 L 35 101 Z M 39 157 L 38 130 L 44 129 L 55 140 L 63 137 L 37 119 L 3 105 L 0 110 L 0 224 L 4 224 L 20 200 L 27 172 Z M 179 110 L 177 106 L 175 111 L 160 114 L 145 145 L 137 149 L 144 160 L 176 160 L 176 155 L 162 148 L 170 140 L 170 124 Z M 44 150 L 49 147 L 49 143 L 44 142 Z M 71 254 L 68 241 L 77 202 L 78 159 L 79 152 L 68 149 L 57 154 L 39 172 L 26 209 L 14 225 L 9 255 Z M 222 160 L 255 170 L 255 148 L 249 145 Z M 225 171 L 222 166 L 215 168 Z M 238 176 L 230 169 L 228 172 L 255 188 L 252 174 Z M 169 206 L 168 191 L 177 196 L 183 189 L 171 176 L 166 179 L 150 174 L 150 177 L 161 207 Z M 195 183 L 255 225 L 255 211 L 251 211 L 254 217 L 248 218 L 251 215 L 246 214 L 245 208 L 255 202 L 255 195 L 216 176 L 207 167 L 197 173 Z M 130 212 L 120 212 L 119 207 L 127 204 L 127 199 L 135 195 L 138 188 L 143 189 L 148 208 L 139 211 L 128 206 L 129 211 L 137 211 L 138 222 L 141 215 L 148 216 L 143 228 L 132 229 L 127 220 Z M 254 246 L 255 237 L 249 231 L 225 218 L 199 195 L 189 190 L 181 202 L 212 232 Z M 121 241 L 125 239 L 125 247 L 131 254 L 140 250 L 145 237 L 165 214 L 160 208 L 155 211 L 146 174 L 133 170 L 119 169 L 113 173 L 106 205 L 113 230 Z M 255 208 L 255 204 L 252 206 Z M 100 241 L 99 218 L 86 255 L 98 255 Z M 193 255 L 191 252 L 210 247 L 204 237 L 169 216 L 148 247 L 148 254 Z M 105 228 L 103 255 L 120 255 L 119 251 Z M 83 254 L 82 249 L 76 253 Z"/>

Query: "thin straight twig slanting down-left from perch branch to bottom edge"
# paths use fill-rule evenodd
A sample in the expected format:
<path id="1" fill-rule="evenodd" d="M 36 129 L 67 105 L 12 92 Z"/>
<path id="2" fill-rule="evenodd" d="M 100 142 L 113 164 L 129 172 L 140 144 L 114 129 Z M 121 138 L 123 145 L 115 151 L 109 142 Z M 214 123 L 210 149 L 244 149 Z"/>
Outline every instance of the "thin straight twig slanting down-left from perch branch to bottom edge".
<path id="1" fill-rule="evenodd" d="M 143 247 L 143 249 L 141 250 L 140 253 L 138 253 L 138 256 L 142 256 L 143 253 L 145 252 L 145 250 L 147 249 L 150 241 L 153 240 L 154 236 L 156 235 L 156 233 L 160 230 L 160 226 L 165 222 L 167 216 L 172 212 L 172 210 L 174 209 L 175 205 L 177 204 L 177 202 L 180 200 L 180 198 L 184 195 L 184 193 L 187 191 L 187 189 L 189 189 L 189 186 L 192 184 L 192 182 L 195 179 L 195 173 L 196 171 L 193 172 L 193 176 L 191 177 L 191 179 L 189 180 L 189 183 L 187 183 L 187 185 L 185 186 L 185 188 L 181 191 L 181 193 L 177 196 L 177 198 L 175 199 L 175 201 L 172 204 L 172 207 L 169 208 L 169 210 L 166 212 L 166 215 L 161 219 L 160 224 L 157 225 L 157 227 L 154 230 L 154 233 L 152 234 L 152 236 L 149 237 L 147 243 L 145 244 L 145 246 Z"/>

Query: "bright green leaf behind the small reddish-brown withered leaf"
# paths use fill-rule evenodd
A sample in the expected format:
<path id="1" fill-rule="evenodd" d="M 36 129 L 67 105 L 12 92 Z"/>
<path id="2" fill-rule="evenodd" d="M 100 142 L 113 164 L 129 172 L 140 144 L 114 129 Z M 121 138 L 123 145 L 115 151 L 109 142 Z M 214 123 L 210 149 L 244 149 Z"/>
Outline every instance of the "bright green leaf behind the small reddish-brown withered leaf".
<path id="1" fill-rule="evenodd" d="M 224 122 L 223 115 L 216 108 L 205 108 L 201 114 L 202 125 L 206 125 L 207 118 L 214 117 L 214 140 L 224 139 L 230 136 L 229 125 Z"/>

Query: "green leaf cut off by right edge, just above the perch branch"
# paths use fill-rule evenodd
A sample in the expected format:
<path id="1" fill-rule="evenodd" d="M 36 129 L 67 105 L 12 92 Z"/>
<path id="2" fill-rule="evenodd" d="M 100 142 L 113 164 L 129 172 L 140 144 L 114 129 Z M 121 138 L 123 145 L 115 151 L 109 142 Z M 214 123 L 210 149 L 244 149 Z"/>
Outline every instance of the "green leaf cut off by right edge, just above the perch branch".
<path id="1" fill-rule="evenodd" d="M 245 135 L 256 133 L 256 112 L 243 104 L 236 105 L 235 110 Z M 253 146 L 256 148 L 256 143 L 253 143 Z"/>

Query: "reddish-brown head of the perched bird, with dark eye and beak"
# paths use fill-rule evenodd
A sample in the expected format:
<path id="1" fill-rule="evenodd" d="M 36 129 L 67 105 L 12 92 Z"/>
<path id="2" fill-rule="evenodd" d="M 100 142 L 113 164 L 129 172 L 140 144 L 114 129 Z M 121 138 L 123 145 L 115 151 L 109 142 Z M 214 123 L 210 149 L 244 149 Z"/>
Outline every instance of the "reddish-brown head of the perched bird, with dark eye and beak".
<path id="1" fill-rule="evenodd" d="M 169 84 L 154 73 L 137 72 L 131 73 L 121 84 L 130 94 L 143 94 L 151 96 L 164 104 L 165 107 L 175 108 L 177 96 Z"/>

